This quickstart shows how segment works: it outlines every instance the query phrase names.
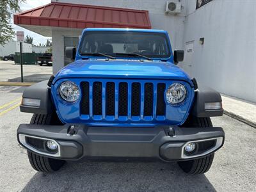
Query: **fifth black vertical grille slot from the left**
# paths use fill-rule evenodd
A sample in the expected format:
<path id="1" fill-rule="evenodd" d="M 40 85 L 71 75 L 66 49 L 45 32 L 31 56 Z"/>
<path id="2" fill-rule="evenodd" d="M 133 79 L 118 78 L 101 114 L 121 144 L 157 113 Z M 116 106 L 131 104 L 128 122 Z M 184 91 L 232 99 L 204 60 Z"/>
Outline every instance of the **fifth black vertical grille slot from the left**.
<path id="1" fill-rule="evenodd" d="M 140 116 L 140 83 L 132 83 L 131 115 Z"/>

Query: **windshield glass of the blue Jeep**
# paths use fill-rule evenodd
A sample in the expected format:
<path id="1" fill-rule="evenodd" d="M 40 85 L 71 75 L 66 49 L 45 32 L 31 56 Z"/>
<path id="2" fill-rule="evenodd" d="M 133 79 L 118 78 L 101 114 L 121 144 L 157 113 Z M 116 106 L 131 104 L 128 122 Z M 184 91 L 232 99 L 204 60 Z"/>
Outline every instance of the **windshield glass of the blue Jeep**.
<path id="1" fill-rule="evenodd" d="M 132 31 L 86 31 L 81 40 L 79 53 L 83 56 L 92 56 L 95 52 L 115 58 L 138 58 L 138 54 L 148 58 L 171 56 L 164 33 Z"/>

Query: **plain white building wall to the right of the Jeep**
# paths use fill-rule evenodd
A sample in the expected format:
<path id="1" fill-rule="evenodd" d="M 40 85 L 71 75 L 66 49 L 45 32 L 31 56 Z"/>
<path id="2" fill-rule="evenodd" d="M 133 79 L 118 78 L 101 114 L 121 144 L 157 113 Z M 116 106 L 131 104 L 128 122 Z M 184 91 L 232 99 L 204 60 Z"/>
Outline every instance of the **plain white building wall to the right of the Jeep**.
<path id="1" fill-rule="evenodd" d="M 196 0 L 187 1 L 184 33 L 184 44 L 194 41 L 192 66 L 182 67 L 199 83 L 256 102 L 256 2 L 213 0 L 195 6 Z"/>

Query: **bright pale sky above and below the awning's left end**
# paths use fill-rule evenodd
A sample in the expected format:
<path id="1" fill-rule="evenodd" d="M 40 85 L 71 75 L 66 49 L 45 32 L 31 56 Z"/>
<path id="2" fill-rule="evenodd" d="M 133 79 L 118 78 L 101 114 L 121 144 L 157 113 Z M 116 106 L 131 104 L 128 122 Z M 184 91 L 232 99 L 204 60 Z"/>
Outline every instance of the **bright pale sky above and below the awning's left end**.
<path id="1" fill-rule="evenodd" d="M 51 3 L 51 0 L 26 0 L 26 3 L 20 4 L 20 10 L 23 12 L 26 10 L 30 10 L 32 8 L 36 8 L 38 6 L 42 6 L 44 4 L 48 4 L 48 3 Z M 39 45 L 40 43 L 45 44 L 46 40 L 49 38 L 49 37 L 39 35 L 37 33 L 34 33 L 33 31 L 29 31 L 28 29 L 21 28 L 20 26 L 13 24 L 13 19 L 12 19 L 12 26 L 13 26 L 13 29 L 15 32 L 16 31 L 24 31 L 25 36 L 26 35 L 32 36 L 33 44 L 35 44 L 35 45 Z"/>

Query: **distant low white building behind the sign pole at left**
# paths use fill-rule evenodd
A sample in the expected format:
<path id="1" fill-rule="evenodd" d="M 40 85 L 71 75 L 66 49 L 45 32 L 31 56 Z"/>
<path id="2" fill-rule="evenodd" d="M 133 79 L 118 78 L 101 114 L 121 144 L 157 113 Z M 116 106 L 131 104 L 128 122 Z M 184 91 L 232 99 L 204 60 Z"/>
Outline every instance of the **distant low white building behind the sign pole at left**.
<path id="1" fill-rule="evenodd" d="M 15 52 L 20 52 L 20 44 L 16 41 L 10 41 L 4 46 L 0 45 L 0 56 L 7 56 Z M 32 52 L 32 45 L 22 43 L 22 52 Z"/>

